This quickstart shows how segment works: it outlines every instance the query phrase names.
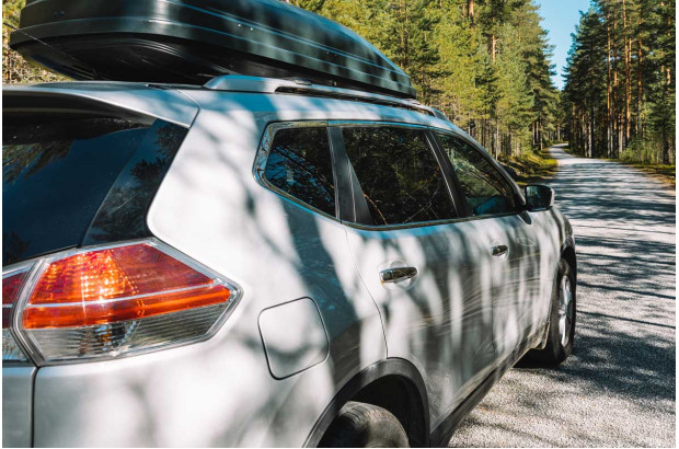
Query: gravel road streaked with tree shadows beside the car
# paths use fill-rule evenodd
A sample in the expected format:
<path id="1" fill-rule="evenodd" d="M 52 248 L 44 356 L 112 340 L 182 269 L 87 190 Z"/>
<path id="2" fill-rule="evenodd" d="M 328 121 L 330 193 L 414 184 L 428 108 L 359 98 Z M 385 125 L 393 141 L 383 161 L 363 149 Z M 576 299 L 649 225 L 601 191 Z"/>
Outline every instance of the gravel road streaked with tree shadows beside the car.
<path id="1" fill-rule="evenodd" d="M 575 231 L 577 327 L 560 368 L 514 368 L 450 447 L 675 447 L 675 191 L 553 147 Z"/>

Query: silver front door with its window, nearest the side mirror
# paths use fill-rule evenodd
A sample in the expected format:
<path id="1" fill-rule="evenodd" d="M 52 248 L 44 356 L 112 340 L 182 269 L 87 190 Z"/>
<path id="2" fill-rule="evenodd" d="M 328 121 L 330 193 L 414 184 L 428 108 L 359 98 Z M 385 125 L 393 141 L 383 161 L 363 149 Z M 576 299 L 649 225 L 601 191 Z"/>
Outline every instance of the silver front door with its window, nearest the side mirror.
<path id="1" fill-rule="evenodd" d="M 463 136 L 435 136 L 456 174 L 467 214 L 492 256 L 493 335 L 499 359 L 523 348 L 545 320 L 540 293 L 540 217 L 521 211 L 517 188 Z"/>

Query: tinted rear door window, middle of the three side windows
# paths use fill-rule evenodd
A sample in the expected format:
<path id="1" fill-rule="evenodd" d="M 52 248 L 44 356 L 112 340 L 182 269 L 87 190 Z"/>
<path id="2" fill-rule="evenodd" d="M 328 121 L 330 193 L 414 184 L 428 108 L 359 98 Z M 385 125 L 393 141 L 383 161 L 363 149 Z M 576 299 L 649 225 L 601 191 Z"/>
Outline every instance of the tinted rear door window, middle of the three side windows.
<path id="1" fill-rule="evenodd" d="M 345 127 L 342 133 L 372 218 L 372 223 L 367 225 L 456 218 L 424 130 Z"/>

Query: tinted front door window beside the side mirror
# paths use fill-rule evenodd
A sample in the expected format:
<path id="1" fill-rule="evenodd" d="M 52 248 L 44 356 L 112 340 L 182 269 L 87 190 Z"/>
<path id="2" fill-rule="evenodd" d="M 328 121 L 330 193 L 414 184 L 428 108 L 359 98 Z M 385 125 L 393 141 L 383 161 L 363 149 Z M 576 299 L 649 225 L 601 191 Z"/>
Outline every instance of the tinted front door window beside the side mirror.
<path id="1" fill-rule="evenodd" d="M 437 133 L 437 136 L 452 162 L 472 215 L 515 210 L 511 187 L 479 150 L 454 136 L 441 133 Z"/>

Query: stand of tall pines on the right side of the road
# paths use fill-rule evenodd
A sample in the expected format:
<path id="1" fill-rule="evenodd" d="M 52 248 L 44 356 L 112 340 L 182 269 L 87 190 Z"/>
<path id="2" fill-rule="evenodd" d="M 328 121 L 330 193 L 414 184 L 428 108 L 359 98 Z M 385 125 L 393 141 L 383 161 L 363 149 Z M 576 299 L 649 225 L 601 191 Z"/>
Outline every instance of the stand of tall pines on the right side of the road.
<path id="1" fill-rule="evenodd" d="M 675 35 L 674 0 L 592 0 L 573 35 L 562 99 L 574 149 L 674 161 Z"/>

